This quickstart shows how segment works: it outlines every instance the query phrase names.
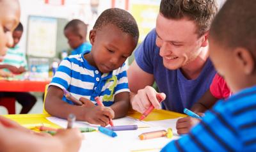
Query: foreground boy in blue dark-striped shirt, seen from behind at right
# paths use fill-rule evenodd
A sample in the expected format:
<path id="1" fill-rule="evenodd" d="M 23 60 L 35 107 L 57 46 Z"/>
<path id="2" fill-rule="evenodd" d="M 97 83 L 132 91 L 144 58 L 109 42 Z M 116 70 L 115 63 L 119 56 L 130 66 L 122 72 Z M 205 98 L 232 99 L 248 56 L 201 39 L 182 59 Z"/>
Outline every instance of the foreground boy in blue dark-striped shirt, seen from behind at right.
<path id="1" fill-rule="evenodd" d="M 210 29 L 212 62 L 234 95 L 216 103 L 191 132 L 162 151 L 256 150 L 255 8 L 254 0 L 227 0 Z"/>

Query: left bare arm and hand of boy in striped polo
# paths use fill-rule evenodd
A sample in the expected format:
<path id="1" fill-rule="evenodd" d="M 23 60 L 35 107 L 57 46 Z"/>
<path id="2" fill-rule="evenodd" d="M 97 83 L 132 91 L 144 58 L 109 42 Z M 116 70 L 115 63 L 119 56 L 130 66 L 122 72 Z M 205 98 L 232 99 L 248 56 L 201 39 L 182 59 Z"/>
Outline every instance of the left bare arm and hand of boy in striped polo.
<path id="1" fill-rule="evenodd" d="M 76 115 L 77 120 L 88 121 L 88 123 L 106 126 L 109 118 L 114 117 L 114 112 L 109 107 L 95 106 L 84 107 L 70 105 L 62 100 L 63 90 L 57 86 L 50 86 L 45 98 L 45 110 L 52 116 L 67 118 L 68 114 Z"/>

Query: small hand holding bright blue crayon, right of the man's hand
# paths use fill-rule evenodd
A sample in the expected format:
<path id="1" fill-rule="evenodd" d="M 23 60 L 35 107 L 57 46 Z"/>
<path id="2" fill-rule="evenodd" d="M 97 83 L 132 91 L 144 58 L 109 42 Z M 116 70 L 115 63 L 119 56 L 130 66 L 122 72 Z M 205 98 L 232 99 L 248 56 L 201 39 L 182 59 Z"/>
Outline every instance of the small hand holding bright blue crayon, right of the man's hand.
<path id="1" fill-rule="evenodd" d="M 179 134 L 188 133 L 189 130 L 200 121 L 201 119 L 196 119 L 191 117 L 180 118 L 176 123 L 177 132 Z"/>

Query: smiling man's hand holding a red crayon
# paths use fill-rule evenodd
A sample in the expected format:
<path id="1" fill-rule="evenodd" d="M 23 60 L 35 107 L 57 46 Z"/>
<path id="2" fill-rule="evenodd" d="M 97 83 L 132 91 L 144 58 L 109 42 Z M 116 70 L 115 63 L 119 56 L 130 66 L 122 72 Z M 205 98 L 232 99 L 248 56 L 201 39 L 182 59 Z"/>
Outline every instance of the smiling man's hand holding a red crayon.
<path id="1" fill-rule="evenodd" d="M 132 109 L 141 114 L 152 104 L 156 109 L 161 109 L 160 103 L 157 100 L 159 96 L 163 100 L 166 98 L 164 93 L 157 93 L 153 87 L 146 86 L 144 89 L 138 90 L 136 95 L 131 95 Z"/>

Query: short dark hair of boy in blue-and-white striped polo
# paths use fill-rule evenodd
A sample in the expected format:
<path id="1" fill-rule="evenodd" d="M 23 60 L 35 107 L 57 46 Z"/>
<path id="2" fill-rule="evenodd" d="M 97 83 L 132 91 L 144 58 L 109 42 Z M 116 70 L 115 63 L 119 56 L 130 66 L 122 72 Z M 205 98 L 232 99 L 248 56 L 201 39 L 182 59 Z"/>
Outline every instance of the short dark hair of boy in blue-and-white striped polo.
<path id="1" fill-rule="evenodd" d="M 132 37 L 138 41 L 139 29 L 136 20 L 128 11 L 120 8 L 109 8 L 108 10 L 104 10 L 96 20 L 93 29 L 100 30 L 107 24 L 113 24 L 124 33 L 131 34 Z"/>

